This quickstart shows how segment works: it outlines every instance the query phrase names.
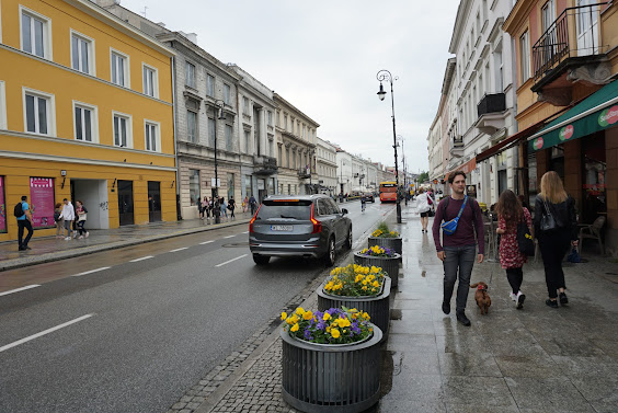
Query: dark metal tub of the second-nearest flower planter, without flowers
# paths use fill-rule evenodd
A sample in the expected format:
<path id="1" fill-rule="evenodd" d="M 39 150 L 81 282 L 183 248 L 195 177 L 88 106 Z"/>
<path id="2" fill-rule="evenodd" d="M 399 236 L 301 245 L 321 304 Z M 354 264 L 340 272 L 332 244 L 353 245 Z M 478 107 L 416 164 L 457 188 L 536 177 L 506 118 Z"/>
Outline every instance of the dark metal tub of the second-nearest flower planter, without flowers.
<path id="1" fill-rule="evenodd" d="M 390 277 L 385 278 L 381 292 L 373 297 L 350 297 L 328 294 L 324 292 L 327 282 L 328 279 L 318 288 L 318 310 L 325 311 L 330 308 L 347 307 L 366 311 L 369 317 L 371 317 L 371 322 L 382 331 L 382 341 L 388 337 L 390 320 Z"/>

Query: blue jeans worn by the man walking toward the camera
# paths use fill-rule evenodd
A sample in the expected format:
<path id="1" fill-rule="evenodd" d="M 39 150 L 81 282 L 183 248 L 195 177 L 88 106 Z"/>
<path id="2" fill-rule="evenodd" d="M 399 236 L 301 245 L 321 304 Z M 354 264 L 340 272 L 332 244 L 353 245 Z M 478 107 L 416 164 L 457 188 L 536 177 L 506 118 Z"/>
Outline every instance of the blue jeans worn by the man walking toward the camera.
<path id="1" fill-rule="evenodd" d="M 464 246 L 445 246 L 444 252 L 444 302 L 450 302 L 455 282 L 459 276 L 459 285 L 457 286 L 457 312 L 466 310 L 466 301 L 468 300 L 468 291 L 470 290 L 470 277 L 472 275 L 472 266 L 474 265 L 474 256 L 477 255 L 477 245 Z M 459 274 L 458 274 L 459 273 Z"/>

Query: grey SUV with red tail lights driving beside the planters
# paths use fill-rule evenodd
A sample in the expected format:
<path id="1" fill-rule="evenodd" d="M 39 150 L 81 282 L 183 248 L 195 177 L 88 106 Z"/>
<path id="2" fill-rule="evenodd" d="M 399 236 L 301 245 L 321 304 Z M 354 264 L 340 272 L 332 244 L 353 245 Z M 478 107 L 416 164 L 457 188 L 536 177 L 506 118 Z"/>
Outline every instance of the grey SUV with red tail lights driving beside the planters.
<path id="1" fill-rule="evenodd" d="M 325 195 L 268 196 L 249 222 L 255 264 L 271 256 L 312 256 L 328 266 L 339 246 L 352 248 L 352 220 Z"/>

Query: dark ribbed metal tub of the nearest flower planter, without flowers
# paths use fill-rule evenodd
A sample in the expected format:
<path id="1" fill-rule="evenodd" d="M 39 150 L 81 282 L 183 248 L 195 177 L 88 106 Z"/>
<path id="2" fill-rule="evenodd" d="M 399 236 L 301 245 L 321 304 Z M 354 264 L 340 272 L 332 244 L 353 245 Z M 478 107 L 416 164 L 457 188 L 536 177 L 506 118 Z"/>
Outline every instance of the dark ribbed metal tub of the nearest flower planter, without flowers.
<path id="1" fill-rule="evenodd" d="M 374 405 L 380 397 L 380 340 L 374 335 L 354 344 L 314 344 L 281 329 L 282 395 L 308 413 L 353 413 Z"/>

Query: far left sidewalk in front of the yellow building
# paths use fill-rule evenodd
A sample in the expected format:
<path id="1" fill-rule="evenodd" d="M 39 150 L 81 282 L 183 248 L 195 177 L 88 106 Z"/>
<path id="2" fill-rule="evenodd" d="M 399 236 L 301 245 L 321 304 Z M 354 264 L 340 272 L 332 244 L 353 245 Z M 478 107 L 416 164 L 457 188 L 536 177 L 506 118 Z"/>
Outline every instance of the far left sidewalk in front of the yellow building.
<path id="1" fill-rule="evenodd" d="M 93 229 L 89 231 L 90 237 L 82 240 L 72 239 L 65 241 L 64 239 L 56 239 L 55 237 L 33 238 L 28 243 L 32 250 L 28 251 L 18 251 L 16 240 L 2 242 L 0 243 L 0 272 L 172 237 L 247 225 L 250 219 L 250 214 L 240 213 L 236 220 L 221 220 L 221 223 L 218 225 L 211 223 L 213 220 L 208 223 L 207 220 L 188 219 L 171 222 L 133 225 L 116 229 Z"/>

